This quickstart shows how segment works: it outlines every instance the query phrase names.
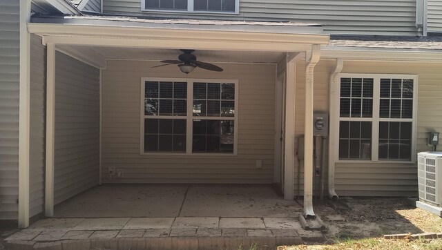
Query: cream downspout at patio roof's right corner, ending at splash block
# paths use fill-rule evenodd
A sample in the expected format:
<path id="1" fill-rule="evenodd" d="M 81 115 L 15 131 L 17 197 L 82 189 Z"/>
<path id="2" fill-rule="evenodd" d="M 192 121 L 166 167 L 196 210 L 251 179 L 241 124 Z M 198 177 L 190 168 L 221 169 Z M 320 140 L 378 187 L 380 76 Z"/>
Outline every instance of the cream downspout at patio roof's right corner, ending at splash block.
<path id="1" fill-rule="evenodd" d="M 304 216 L 315 218 L 313 211 L 313 95 L 314 68 L 320 59 L 320 45 L 311 48 L 311 57 L 305 66 L 305 140 L 304 140 Z M 307 57 L 306 57 L 307 60 Z"/>

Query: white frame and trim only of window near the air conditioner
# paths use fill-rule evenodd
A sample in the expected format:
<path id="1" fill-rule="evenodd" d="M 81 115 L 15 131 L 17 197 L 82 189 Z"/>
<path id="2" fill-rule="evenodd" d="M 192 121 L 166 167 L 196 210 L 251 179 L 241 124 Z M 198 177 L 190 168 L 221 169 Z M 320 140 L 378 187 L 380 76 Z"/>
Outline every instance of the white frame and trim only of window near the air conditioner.
<path id="1" fill-rule="evenodd" d="M 340 79 L 341 78 L 372 78 L 373 79 L 373 117 L 340 117 Z M 412 119 L 395 119 L 395 118 L 380 118 L 379 113 L 375 112 L 379 110 L 379 99 L 380 99 L 380 79 L 390 78 L 390 79 L 413 79 L 413 111 Z M 336 115 L 336 131 L 334 133 L 339 135 L 339 124 L 340 121 L 369 121 L 372 122 L 372 159 L 371 160 L 339 160 L 339 136 L 335 137 L 335 145 L 337 145 L 334 151 L 334 157 L 338 163 L 368 163 L 368 162 L 378 162 L 378 163 L 415 163 L 416 162 L 416 131 L 417 131 L 417 90 L 418 90 L 418 75 L 401 75 L 401 74 L 353 74 L 353 73 L 341 73 L 338 75 L 339 88 L 336 92 L 336 107 L 333 107 L 334 111 L 330 115 Z M 378 159 L 378 145 L 379 145 L 379 122 L 412 122 L 412 148 L 410 161 L 402 160 L 379 160 Z"/>

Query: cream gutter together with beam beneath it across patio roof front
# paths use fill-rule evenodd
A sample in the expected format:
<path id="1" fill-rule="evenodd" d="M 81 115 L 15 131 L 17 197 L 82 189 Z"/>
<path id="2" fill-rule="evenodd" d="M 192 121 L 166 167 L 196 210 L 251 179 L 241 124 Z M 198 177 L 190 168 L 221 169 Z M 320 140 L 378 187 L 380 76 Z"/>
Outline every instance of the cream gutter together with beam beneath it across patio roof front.
<path id="1" fill-rule="evenodd" d="M 102 26 L 62 23 L 28 23 L 30 33 L 44 43 L 122 46 L 140 48 L 195 48 L 249 51 L 306 51 L 312 44 L 326 45 L 329 35 L 253 32 L 246 30 L 207 30 L 192 28 Z"/>

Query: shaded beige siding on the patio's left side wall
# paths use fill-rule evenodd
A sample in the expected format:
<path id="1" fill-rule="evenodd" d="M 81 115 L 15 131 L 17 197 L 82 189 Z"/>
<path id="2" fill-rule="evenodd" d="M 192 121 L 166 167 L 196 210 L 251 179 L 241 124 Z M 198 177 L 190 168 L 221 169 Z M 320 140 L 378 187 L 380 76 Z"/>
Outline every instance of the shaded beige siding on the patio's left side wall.
<path id="1" fill-rule="evenodd" d="M 99 182 L 99 70 L 57 52 L 55 57 L 54 200 Z"/>

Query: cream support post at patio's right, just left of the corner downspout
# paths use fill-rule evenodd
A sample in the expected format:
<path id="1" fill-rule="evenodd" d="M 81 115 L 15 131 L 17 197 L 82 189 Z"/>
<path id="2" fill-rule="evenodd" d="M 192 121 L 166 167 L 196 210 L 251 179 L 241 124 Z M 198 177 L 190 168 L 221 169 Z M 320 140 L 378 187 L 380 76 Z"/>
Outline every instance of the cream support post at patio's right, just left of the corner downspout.
<path id="1" fill-rule="evenodd" d="M 284 199 L 294 198 L 296 62 L 303 54 L 287 53 L 285 84 Z"/>

